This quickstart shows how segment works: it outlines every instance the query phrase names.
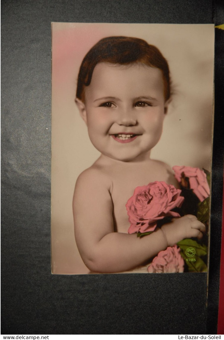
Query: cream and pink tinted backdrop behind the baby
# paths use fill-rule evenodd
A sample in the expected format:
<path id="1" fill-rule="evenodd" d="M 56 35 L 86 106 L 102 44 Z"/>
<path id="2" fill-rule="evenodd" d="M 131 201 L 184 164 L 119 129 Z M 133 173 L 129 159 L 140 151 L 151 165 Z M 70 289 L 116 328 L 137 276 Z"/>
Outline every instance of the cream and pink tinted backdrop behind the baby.
<path id="1" fill-rule="evenodd" d="M 52 23 L 53 273 L 89 272 L 76 247 L 72 215 L 76 179 L 99 156 L 74 102 L 83 57 L 99 39 L 111 35 L 142 38 L 158 47 L 169 63 L 174 95 L 151 156 L 170 166 L 210 170 L 213 31 L 210 24 Z"/>

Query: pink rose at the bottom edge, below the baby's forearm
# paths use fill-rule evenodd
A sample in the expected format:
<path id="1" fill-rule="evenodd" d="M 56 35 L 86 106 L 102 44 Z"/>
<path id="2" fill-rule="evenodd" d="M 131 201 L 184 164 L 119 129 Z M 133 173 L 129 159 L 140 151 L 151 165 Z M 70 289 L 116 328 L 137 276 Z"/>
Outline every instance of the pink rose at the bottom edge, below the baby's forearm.
<path id="1" fill-rule="evenodd" d="M 159 252 L 148 267 L 149 273 L 183 273 L 184 259 L 180 254 L 180 248 L 175 244 L 166 250 Z"/>

